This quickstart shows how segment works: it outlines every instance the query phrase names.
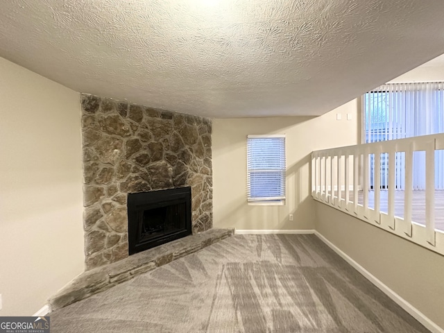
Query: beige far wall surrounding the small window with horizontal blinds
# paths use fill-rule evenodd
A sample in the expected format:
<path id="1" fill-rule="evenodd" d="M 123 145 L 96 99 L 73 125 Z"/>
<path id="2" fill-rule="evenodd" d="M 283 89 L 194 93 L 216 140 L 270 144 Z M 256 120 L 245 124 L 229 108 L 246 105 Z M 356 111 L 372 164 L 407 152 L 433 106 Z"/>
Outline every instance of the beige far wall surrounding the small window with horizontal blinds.
<path id="1" fill-rule="evenodd" d="M 311 151 L 357 144 L 357 105 L 354 100 L 321 117 L 214 119 L 214 227 L 294 230 L 314 228 L 314 201 L 309 194 Z M 341 113 L 342 120 L 336 120 Z M 348 121 L 347 113 L 352 114 Z M 287 203 L 284 206 L 247 205 L 246 137 L 285 134 Z M 289 221 L 294 214 L 294 221 Z"/>

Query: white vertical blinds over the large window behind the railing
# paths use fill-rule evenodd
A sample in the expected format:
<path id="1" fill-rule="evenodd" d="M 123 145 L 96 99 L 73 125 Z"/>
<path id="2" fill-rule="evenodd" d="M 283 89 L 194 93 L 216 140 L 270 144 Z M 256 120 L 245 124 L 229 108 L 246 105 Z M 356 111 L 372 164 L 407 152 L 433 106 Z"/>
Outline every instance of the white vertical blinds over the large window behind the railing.
<path id="1" fill-rule="evenodd" d="M 391 83 L 364 94 L 366 142 L 444 133 L 443 89 L 442 82 Z M 436 189 L 444 189 L 443 153 L 436 151 L 435 155 Z M 382 187 L 388 180 L 387 162 L 387 154 L 382 154 Z M 396 155 L 395 165 L 396 187 L 404 189 L 404 153 Z M 373 158 L 370 167 L 373 167 Z M 422 152 L 413 156 L 413 188 L 425 189 L 425 153 Z"/>

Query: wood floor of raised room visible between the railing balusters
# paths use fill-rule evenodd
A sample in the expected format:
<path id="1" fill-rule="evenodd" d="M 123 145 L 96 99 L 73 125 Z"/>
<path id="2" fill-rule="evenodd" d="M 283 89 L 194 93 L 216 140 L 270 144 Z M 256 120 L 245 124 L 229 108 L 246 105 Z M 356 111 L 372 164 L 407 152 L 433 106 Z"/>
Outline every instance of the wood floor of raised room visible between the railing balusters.
<path id="1" fill-rule="evenodd" d="M 381 212 L 388 212 L 388 191 L 381 190 L 380 209 Z M 337 197 L 337 192 L 336 195 Z M 345 199 L 345 191 L 342 191 L 342 198 Z M 353 192 L 350 191 L 350 202 L 353 201 Z M 364 204 L 363 191 L 358 194 L 359 205 Z M 368 191 L 368 207 L 375 208 L 375 191 Z M 404 217 L 404 191 L 395 191 L 395 215 Z M 425 191 L 413 191 L 411 206 L 412 220 L 425 225 Z M 444 191 L 435 191 L 435 229 L 444 232 Z"/>

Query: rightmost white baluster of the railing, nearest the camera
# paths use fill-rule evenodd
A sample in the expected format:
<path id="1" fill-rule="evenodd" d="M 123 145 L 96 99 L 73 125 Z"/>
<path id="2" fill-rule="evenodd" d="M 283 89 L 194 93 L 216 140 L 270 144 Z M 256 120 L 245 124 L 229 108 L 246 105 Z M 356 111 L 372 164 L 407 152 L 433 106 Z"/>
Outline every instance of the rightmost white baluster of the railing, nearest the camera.
<path id="1" fill-rule="evenodd" d="M 435 245 L 435 140 L 425 151 L 425 228 L 427 241 Z"/>

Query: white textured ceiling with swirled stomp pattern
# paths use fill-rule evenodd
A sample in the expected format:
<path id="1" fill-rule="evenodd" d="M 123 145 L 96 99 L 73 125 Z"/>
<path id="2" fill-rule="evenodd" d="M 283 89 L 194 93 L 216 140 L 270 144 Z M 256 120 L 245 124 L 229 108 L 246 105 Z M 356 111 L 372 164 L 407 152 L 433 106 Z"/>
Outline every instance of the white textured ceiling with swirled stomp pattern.
<path id="1" fill-rule="evenodd" d="M 444 53 L 442 0 L 1 0 L 0 56 L 206 117 L 318 115 Z"/>

